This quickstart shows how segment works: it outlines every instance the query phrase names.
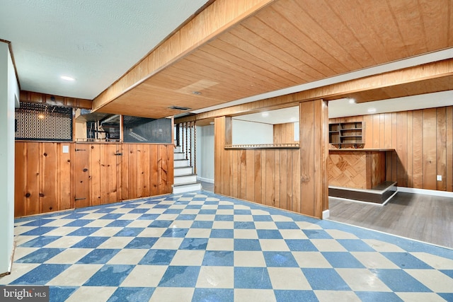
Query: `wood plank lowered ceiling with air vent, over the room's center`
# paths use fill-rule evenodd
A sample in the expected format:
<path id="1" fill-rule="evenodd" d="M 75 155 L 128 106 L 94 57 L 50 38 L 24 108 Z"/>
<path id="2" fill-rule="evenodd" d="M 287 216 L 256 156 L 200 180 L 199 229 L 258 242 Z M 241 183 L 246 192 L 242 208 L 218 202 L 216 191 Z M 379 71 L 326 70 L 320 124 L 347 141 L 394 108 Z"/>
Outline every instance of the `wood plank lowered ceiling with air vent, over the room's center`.
<path id="1" fill-rule="evenodd" d="M 444 50 L 453 47 L 452 4 L 453 0 L 272 1 L 132 89 L 98 101 L 98 110 L 166 117 L 180 113 L 168 109 L 172 105 L 206 108 Z M 453 89 L 451 76 L 423 85 L 429 87 L 420 91 Z M 410 93 L 408 88 L 397 89 L 361 93 L 360 98 Z"/>

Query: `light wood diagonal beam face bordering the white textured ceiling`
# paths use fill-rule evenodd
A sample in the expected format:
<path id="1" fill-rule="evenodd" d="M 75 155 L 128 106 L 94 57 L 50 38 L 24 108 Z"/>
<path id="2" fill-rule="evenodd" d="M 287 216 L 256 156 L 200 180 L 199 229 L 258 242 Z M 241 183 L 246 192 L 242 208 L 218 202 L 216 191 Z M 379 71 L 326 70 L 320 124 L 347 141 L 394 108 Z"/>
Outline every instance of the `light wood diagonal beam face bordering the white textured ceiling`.
<path id="1" fill-rule="evenodd" d="M 183 25 L 134 68 L 93 100 L 93 110 L 108 105 L 162 69 L 187 56 L 275 0 L 216 0 Z"/>

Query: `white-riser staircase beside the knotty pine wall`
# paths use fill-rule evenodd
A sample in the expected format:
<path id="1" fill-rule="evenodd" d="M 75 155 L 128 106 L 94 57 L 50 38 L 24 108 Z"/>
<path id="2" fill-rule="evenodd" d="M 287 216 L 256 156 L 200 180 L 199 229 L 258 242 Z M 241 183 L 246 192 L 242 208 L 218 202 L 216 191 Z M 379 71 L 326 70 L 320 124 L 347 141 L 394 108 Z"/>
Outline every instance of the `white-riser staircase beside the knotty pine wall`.
<path id="1" fill-rule="evenodd" d="M 202 190 L 201 183 L 197 182 L 197 175 L 193 173 L 193 167 L 186 159 L 185 153 L 180 146 L 176 146 L 174 152 L 174 177 L 173 194 Z"/>

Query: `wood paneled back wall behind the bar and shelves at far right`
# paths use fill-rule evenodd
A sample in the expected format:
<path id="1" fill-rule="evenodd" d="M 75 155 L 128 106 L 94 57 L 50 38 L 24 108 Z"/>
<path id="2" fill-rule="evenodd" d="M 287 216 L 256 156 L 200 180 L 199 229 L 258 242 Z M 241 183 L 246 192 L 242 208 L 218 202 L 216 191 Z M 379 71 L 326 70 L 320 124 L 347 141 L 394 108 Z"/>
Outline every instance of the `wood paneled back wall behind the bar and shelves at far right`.
<path id="1" fill-rule="evenodd" d="M 453 192 L 453 106 L 331 119 L 350 121 L 365 122 L 365 148 L 396 150 L 386 156 L 386 180 Z"/>

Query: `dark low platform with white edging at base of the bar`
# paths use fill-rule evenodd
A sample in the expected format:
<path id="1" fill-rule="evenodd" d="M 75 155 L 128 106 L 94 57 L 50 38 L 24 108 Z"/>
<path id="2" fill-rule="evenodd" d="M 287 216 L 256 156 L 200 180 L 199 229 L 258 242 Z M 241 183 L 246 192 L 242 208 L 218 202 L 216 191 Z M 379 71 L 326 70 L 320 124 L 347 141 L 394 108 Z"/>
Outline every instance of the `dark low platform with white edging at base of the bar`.
<path id="1" fill-rule="evenodd" d="M 328 196 L 384 205 L 389 202 L 391 197 L 394 197 L 396 190 L 396 182 L 382 182 L 371 190 L 328 187 Z"/>

